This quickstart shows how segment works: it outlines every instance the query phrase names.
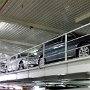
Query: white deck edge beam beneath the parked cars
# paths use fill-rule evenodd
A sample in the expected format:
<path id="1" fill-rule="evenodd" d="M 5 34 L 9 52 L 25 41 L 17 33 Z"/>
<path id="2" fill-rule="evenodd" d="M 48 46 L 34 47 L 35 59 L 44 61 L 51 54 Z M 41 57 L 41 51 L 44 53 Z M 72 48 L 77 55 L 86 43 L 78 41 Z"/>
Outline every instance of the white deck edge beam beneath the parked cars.
<path id="1" fill-rule="evenodd" d="M 90 72 L 90 56 L 1 74 L 0 82 L 27 78 L 35 79 L 47 76 L 68 75 L 83 72 Z"/>

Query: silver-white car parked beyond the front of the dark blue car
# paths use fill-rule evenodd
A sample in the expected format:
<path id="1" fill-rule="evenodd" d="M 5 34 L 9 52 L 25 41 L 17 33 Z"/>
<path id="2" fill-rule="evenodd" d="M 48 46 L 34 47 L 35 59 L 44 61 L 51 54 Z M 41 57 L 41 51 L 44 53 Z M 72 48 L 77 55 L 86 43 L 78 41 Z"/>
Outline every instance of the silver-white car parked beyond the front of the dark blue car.
<path id="1" fill-rule="evenodd" d="M 35 67 L 38 65 L 38 61 L 35 61 L 34 55 L 27 56 L 26 53 L 21 53 L 19 55 L 13 56 L 10 61 L 6 64 L 6 69 L 8 72 L 25 69 L 29 67 Z"/>

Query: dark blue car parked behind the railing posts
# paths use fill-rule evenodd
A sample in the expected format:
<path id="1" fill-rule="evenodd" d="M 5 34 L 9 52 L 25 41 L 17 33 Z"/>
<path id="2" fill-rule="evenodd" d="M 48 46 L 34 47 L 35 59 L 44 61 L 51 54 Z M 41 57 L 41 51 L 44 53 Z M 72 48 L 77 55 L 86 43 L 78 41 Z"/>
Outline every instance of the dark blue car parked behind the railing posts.
<path id="1" fill-rule="evenodd" d="M 67 35 L 67 58 L 88 56 L 90 54 L 90 35 L 69 33 Z M 41 48 L 42 49 L 42 48 Z M 39 49 L 39 52 L 41 51 Z M 65 60 L 65 36 L 49 41 L 45 44 L 44 63 Z M 38 53 L 39 64 L 42 62 L 43 53 Z"/>

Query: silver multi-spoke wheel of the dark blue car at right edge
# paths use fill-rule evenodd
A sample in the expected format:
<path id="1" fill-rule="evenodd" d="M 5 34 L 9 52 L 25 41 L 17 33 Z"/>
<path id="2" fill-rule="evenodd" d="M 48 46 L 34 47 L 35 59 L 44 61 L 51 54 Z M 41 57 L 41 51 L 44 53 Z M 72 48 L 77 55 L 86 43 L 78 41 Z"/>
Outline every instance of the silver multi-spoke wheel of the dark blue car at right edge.
<path id="1" fill-rule="evenodd" d="M 78 57 L 85 57 L 90 55 L 90 46 L 87 46 L 89 43 L 84 43 L 78 49 Z"/>

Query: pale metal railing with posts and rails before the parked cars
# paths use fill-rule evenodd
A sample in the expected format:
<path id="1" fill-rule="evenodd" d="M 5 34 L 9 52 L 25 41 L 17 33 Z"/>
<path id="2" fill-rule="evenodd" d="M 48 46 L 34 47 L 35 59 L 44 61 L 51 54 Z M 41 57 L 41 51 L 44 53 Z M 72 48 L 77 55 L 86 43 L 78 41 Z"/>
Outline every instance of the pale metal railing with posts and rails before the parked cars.
<path id="1" fill-rule="evenodd" d="M 63 56 L 64 56 L 65 60 L 63 60 L 63 61 L 67 61 L 68 52 L 80 48 L 80 47 L 76 47 L 76 48 L 74 48 L 74 49 L 69 49 L 69 50 L 68 50 L 68 43 L 90 35 L 90 34 L 85 34 L 85 35 L 83 35 L 83 36 L 76 37 L 76 38 L 68 41 L 68 40 L 67 40 L 67 39 L 68 39 L 68 37 L 67 37 L 68 34 L 74 32 L 74 31 L 77 31 L 77 30 L 79 30 L 79 29 L 82 29 L 82 28 L 84 28 L 84 27 L 86 27 L 86 26 L 89 26 L 89 25 L 90 25 L 90 23 L 85 24 L 85 25 L 83 25 L 83 26 L 80 26 L 80 27 L 78 27 L 78 28 L 76 28 L 76 29 L 73 29 L 72 31 L 69 31 L 69 32 L 67 32 L 67 33 L 64 33 L 64 34 L 62 34 L 62 35 L 60 35 L 60 36 L 58 36 L 58 37 L 55 37 L 55 38 L 53 38 L 53 39 L 50 39 L 50 40 L 48 40 L 48 41 L 46 41 L 46 42 L 43 42 L 43 43 L 41 43 L 41 44 L 39 44 L 39 45 L 36 45 L 36 46 L 34 46 L 34 47 L 32 47 L 32 48 L 29 48 L 29 49 L 27 49 L 27 50 L 24 50 L 24 51 L 22 51 L 22 52 L 20 52 L 20 53 L 18 53 L 18 54 L 13 55 L 13 56 L 17 56 L 17 55 L 19 55 L 19 54 L 21 54 L 21 53 L 24 53 L 24 52 L 29 53 L 30 50 L 32 51 L 32 50 L 34 50 L 34 49 L 39 49 L 39 51 L 36 51 L 36 52 L 37 52 L 37 53 L 40 53 L 40 52 L 41 52 L 41 53 L 43 54 L 43 60 L 44 60 L 45 57 L 51 57 L 51 56 L 55 56 L 55 55 L 59 55 L 59 54 L 63 54 L 63 53 L 64 53 Z M 51 49 L 51 48 L 54 46 L 54 44 L 57 45 L 57 43 L 51 44 L 51 46 L 48 47 L 48 48 L 45 48 L 45 45 L 46 45 L 48 42 L 50 42 L 50 41 L 52 41 L 52 40 L 55 40 L 55 39 L 58 39 L 58 38 L 60 38 L 60 37 L 62 38 L 63 36 L 65 37 L 65 42 L 61 42 L 61 43 L 59 43 L 58 45 L 64 44 L 64 45 L 63 45 L 63 46 L 64 46 L 64 50 L 61 51 L 61 52 L 59 52 L 59 53 L 58 53 L 58 52 L 57 52 L 57 53 L 52 53 L 51 55 L 45 56 L 45 51 Z M 52 46 L 52 45 L 53 45 L 53 46 Z M 88 44 L 88 45 L 83 45 L 82 47 L 84 47 L 84 46 L 90 46 L 90 44 Z M 41 48 L 41 49 L 40 49 L 40 48 Z M 60 48 L 60 47 L 59 47 L 59 48 Z M 53 50 L 54 50 L 54 48 L 53 48 Z M 55 49 L 55 50 L 56 50 L 56 49 Z M 33 52 L 33 53 L 34 53 L 34 52 Z M 13 56 L 11 56 L 11 57 L 13 57 Z M 59 57 L 59 58 L 60 58 L 60 57 Z M 53 58 L 53 59 L 55 59 L 55 58 Z"/>

